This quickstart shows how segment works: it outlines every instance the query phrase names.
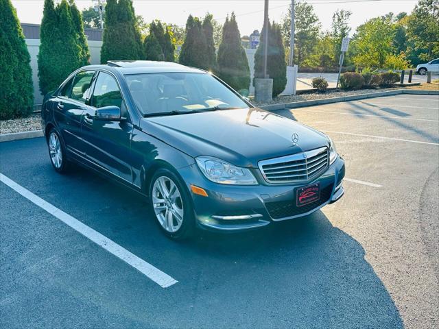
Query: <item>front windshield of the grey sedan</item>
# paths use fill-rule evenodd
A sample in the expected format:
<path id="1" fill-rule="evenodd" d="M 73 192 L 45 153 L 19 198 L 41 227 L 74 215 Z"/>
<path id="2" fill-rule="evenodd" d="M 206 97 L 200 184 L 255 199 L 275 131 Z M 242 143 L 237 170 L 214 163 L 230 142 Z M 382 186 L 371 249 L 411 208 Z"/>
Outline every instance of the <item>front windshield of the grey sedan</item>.
<path id="1" fill-rule="evenodd" d="M 126 75 L 126 81 L 144 115 L 248 108 L 208 73 L 145 73 Z"/>

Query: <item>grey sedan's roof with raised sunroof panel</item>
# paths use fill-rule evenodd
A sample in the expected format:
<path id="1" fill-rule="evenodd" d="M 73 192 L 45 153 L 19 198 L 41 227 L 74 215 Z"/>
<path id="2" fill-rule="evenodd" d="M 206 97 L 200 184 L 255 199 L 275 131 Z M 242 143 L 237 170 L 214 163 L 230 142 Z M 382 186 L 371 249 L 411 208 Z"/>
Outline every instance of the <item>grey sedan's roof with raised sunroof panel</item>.
<path id="1" fill-rule="evenodd" d="M 155 62 L 152 60 L 111 60 L 108 61 L 108 64 L 89 65 L 86 68 L 119 71 L 123 75 L 139 73 L 206 73 L 206 71 L 174 62 Z"/>

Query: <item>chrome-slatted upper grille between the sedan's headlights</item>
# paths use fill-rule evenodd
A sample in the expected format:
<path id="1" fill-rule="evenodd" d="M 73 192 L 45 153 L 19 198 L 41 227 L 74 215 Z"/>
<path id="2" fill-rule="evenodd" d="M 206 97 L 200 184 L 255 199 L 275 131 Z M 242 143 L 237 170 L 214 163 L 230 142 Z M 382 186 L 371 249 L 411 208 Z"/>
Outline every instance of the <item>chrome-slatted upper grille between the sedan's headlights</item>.
<path id="1" fill-rule="evenodd" d="M 312 180 L 328 167 L 327 147 L 292 156 L 259 161 L 259 169 L 269 183 L 289 183 Z"/>

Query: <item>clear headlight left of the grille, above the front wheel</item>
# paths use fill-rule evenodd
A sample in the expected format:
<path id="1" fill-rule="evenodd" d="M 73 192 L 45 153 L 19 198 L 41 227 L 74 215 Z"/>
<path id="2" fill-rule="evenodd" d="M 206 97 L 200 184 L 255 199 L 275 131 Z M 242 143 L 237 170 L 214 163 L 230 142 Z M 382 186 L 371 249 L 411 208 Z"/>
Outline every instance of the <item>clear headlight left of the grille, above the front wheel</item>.
<path id="1" fill-rule="evenodd" d="M 224 160 L 212 158 L 211 156 L 199 156 L 195 158 L 198 167 L 208 180 L 219 184 L 234 185 L 257 185 L 249 169 L 236 167 Z"/>

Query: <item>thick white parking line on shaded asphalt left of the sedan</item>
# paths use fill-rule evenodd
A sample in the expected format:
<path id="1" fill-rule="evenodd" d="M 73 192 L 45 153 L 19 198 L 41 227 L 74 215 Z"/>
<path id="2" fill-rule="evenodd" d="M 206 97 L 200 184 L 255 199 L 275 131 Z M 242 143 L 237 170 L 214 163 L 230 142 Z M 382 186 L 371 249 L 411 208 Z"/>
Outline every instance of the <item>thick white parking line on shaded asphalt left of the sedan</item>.
<path id="1" fill-rule="evenodd" d="M 121 247 L 121 245 L 118 245 L 114 241 L 108 239 L 106 236 L 93 230 L 93 228 L 86 226 L 81 221 L 78 221 L 78 219 L 71 217 L 66 212 L 63 212 L 52 204 L 49 204 L 49 202 L 46 202 L 40 197 L 34 195 L 34 193 L 17 184 L 2 173 L 0 173 L 0 181 L 8 185 L 17 193 L 23 195 L 23 197 L 28 199 L 30 202 L 33 202 L 38 207 L 49 212 L 49 214 L 60 219 L 60 221 L 62 221 L 63 223 L 66 223 L 68 226 L 73 228 L 73 230 L 80 232 L 80 234 L 84 235 L 86 238 L 90 239 L 100 247 L 103 247 L 104 249 L 106 249 L 106 251 L 110 252 L 110 254 L 115 255 L 128 265 L 131 265 L 132 267 L 143 273 L 145 276 L 156 282 L 156 284 L 159 284 L 161 287 L 167 288 L 172 284 L 176 284 L 178 282 L 160 269 L 157 269 L 150 263 L 145 262 L 145 260 L 137 257 L 136 255 L 129 252 L 127 249 Z"/>

